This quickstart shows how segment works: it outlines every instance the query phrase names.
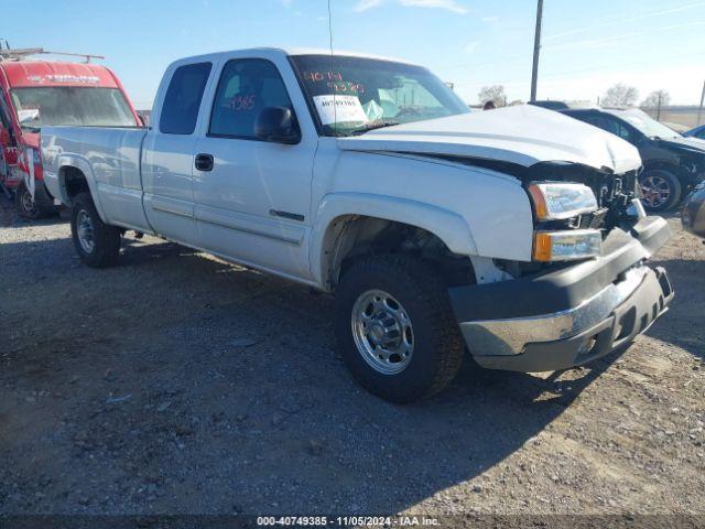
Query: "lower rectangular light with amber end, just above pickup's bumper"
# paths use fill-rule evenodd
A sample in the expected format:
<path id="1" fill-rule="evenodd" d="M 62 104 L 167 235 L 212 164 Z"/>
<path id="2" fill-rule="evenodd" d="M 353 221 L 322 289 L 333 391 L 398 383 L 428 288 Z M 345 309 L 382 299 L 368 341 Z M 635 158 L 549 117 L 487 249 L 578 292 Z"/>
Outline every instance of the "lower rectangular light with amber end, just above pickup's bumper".
<path id="1" fill-rule="evenodd" d="M 597 229 L 536 231 L 533 258 L 536 261 L 570 261 L 599 256 L 603 236 Z"/>

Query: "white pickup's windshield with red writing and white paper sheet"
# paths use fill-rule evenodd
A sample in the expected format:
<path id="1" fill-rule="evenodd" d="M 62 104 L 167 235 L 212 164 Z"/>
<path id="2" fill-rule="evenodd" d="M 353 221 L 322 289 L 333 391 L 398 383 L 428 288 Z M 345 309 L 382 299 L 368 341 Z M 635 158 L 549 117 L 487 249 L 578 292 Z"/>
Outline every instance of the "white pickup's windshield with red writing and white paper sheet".
<path id="1" fill-rule="evenodd" d="M 451 88 L 421 66 L 337 55 L 291 60 L 326 136 L 469 112 Z"/>

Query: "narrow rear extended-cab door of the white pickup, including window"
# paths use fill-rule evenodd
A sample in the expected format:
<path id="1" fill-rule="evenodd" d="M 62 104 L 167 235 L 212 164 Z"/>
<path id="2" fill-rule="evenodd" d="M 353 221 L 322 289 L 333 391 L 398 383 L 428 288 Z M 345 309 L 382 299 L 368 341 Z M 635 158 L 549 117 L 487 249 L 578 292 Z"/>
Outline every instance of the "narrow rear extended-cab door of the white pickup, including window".
<path id="1" fill-rule="evenodd" d="M 194 224 L 193 168 L 196 122 L 213 64 L 184 64 L 164 75 L 156 123 L 142 145 L 144 213 L 154 230 L 198 246 Z M 169 78 L 169 82 L 167 82 Z"/>

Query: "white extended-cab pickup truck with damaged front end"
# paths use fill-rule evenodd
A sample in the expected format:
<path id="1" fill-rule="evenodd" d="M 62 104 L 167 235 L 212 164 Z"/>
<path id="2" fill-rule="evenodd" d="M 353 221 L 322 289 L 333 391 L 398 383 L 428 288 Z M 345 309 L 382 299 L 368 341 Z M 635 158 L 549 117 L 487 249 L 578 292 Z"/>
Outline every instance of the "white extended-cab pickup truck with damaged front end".
<path id="1" fill-rule="evenodd" d="M 76 250 L 128 230 L 336 294 L 355 377 L 430 396 L 465 349 L 545 371 L 629 344 L 673 296 L 644 264 L 669 237 L 621 139 L 531 106 L 470 112 L 427 69 L 245 50 L 169 66 L 149 128 L 45 127 L 48 191 Z"/>

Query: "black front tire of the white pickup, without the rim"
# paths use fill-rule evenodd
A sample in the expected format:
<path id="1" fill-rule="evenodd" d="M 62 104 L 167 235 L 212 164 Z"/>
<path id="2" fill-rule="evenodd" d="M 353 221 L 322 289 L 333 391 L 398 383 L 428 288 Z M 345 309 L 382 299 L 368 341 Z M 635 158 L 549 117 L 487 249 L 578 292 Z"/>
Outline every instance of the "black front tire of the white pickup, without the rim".
<path id="1" fill-rule="evenodd" d="M 373 369 L 358 350 L 352 335 L 356 300 L 375 289 L 399 300 L 413 325 L 413 355 L 409 365 L 394 375 Z M 336 292 L 335 333 L 355 378 L 368 391 L 391 402 L 405 403 L 437 393 L 457 375 L 463 361 L 463 336 L 447 288 L 427 263 L 410 256 L 367 257 L 350 266 Z"/>

